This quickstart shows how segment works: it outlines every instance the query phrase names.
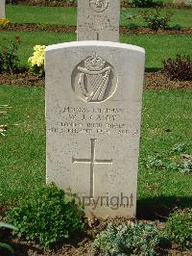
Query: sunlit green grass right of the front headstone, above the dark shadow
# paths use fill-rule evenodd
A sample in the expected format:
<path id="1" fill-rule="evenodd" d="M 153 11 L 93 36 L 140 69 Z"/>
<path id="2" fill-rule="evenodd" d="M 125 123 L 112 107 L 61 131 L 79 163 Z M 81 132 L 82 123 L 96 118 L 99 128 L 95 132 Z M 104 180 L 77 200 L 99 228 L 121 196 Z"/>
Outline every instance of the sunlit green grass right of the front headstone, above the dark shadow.
<path id="1" fill-rule="evenodd" d="M 192 91 L 145 91 L 140 162 L 156 154 L 166 157 L 175 144 L 182 142 L 189 143 L 187 153 L 192 154 L 191 123 Z M 138 179 L 140 198 L 189 197 L 192 194 L 190 174 L 141 166 Z"/>

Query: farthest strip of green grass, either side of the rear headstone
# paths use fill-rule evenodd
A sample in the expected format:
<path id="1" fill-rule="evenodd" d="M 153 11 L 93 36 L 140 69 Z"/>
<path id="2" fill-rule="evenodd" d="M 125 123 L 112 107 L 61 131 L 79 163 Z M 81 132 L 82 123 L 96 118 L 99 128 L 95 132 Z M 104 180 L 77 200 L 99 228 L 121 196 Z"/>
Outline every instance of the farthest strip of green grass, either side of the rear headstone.
<path id="1" fill-rule="evenodd" d="M 126 12 L 135 15 L 135 18 L 129 20 L 121 20 L 121 25 L 136 23 L 144 26 L 144 22 L 140 16 L 141 11 L 146 9 L 130 8 Z M 173 13 L 171 18 L 171 26 L 180 24 L 181 27 L 191 27 L 192 15 L 190 9 L 163 9 L 163 13 L 170 11 Z M 13 23 L 40 23 L 40 24 L 77 24 L 76 8 L 60 8 L 60 7 L 31 7 L 31 6 L 12 6 L 7 8 L 8 18 Z"/>

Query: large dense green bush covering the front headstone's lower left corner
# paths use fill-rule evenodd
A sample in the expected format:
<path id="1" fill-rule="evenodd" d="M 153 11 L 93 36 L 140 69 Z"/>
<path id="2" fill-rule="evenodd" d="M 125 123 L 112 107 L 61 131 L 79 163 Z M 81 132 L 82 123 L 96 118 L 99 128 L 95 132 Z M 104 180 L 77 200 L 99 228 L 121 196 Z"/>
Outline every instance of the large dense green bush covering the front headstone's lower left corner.
<path id="1" fill-rule="evenodd" d="M 84 230 L 82 208 L 53 184 L 23 199 L 7 219 L 16 227 L 13 234 L 44 246 Z"/>

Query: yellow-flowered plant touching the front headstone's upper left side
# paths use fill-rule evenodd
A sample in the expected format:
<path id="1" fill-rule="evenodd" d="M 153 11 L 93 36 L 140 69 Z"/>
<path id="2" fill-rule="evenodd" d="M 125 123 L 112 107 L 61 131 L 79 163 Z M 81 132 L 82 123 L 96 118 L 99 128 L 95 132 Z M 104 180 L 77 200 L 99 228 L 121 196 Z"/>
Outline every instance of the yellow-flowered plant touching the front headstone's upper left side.
<path id="1" fill-rule="evenodd" d="M 44 76 L 45 45 L 34 46 L 34 54 L 29 58 L 30 70 L 39 77 Z"/>

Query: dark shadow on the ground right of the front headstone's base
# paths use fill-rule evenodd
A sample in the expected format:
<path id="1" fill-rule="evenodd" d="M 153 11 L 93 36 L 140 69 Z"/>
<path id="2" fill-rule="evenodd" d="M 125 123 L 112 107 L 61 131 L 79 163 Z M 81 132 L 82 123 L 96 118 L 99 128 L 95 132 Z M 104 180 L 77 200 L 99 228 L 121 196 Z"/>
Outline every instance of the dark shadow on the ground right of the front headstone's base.
<path id="1" fill-rule="evenodd" d="M 189 208 L 192 205 L 190 196 L 159 196 L 143 198 L 137 201 L 137 218 L 165 220 L 175 208 Z"/>

